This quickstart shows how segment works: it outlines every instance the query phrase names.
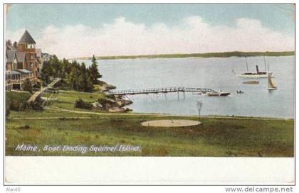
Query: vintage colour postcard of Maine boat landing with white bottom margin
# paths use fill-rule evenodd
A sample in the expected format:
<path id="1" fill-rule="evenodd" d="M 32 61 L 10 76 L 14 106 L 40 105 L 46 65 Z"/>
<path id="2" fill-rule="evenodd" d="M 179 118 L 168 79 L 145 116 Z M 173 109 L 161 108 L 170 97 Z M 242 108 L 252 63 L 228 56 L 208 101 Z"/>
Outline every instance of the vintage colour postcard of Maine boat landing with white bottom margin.
<path id="1" fill-rule="evenodd" d="M 294 4 L 5 4 L 4 14 L 6 182 L 30 179 L 16 163 L 94 158 L 140 170 L 156 158 L 217 170 L 246 161 L 256 176 L 205 182 L 294 182 Z M 287 172 L 258 177 L 266 166 Z M 201 182 L 197 172 L 169 182 Z"/>

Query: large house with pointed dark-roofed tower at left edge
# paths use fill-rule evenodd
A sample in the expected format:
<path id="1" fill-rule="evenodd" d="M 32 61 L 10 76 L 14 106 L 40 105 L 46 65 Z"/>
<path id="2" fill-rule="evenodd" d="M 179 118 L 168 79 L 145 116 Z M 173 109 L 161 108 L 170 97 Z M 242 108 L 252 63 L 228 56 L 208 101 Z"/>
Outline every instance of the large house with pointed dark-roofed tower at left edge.
<path id="1" fill-rule="evenodd" d="M 41 60 L 41 49 L 36 48 L 36 41 L 28 31 L 23 33 L 17 48 L 6 46 L 6 90 L 22 89 L 27 78 L 36 84 Z"/>

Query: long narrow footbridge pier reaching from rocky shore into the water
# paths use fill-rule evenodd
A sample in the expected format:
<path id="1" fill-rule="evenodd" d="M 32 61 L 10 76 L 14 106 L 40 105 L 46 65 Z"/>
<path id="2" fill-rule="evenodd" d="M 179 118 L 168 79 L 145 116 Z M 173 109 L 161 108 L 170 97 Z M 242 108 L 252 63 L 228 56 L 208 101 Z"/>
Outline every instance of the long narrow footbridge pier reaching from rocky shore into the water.
<path id="1" fill-rule="evenodd" d="M 110 95 L 130 95 L 130 94 L 157 94 L 167 92 L 216 92 L 214 89 L 206 88 L 194 88 L 194 87 L 164 87 L 164 88 L 152 88 L 152 89 L 127 89 L 119 91 L 110 91 Z"/>

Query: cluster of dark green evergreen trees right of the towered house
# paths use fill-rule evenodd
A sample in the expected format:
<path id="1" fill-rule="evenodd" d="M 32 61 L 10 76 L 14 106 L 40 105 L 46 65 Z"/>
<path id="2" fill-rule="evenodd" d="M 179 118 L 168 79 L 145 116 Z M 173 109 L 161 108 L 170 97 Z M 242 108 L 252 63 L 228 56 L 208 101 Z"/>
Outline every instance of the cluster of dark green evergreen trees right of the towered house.
<path id="1" fill-rule="evenodd" d="M 41 69 L 41 79 L 49 84 L 52 78 L 60 77 L 65 79 L 65 83 L 70 89 L 79 92 L 92 92 L 93 84 L 100 84 L 102 75 L 98 70 L 98 62 L 93 55 L 92 64 L 86 67 L 85 63 L 77 61 L 69 62 L 65 58 L 59 60 L 53 55 L 50 60 L 43 62 Z"/>

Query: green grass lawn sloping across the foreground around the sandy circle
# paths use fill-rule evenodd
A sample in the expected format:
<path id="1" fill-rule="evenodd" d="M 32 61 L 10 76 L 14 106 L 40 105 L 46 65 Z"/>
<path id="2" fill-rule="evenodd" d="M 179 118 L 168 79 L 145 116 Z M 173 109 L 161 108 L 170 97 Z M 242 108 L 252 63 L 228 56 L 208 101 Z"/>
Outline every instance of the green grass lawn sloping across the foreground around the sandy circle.
<path id="1" fill-rule="evenodd" d="M 7 93 L 6 93 L 6 96 Z M 46 94 L 44 94 L 46 96 Z M 90 97 L 91 96 L 91 97 Z M 24 96 L 25 97 L 25 96 Z M 95 101 L 103 94 L 59 92 L 50 108 L 76 109 L 79 97 Z M 88 111 L 88 112 L 91 112 Z M 80 113 L 80 112 L 79 112 Z M 193 119 L 195 116 L 157 114 L 83 114 L 55 109 L 11 111 L 6 120 L 6 155 L 128 155 L 128 156 L 250 156 L 293 157 L 294 121 L 292 119 L 201 117 L 201 125 L 178 128 L 149 128 L 142 121 L 155 119 Z M 45 117 L 45 119 L 13 118 Z M 57 119 L 46 119 L 46 118 Z M 72 117 L 72 118 L 70 118 Z M 80 118 L 75 118 L 80 117 Z M 83 119 L 88 118 L 88 119 Z M 18 144 L 38 145 L 41 151 L 17 151 Z M 140 145 L 140 152 L 43 151 L 44 145 Z"/>

